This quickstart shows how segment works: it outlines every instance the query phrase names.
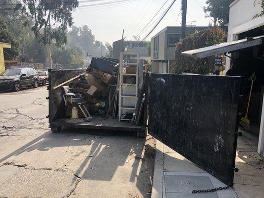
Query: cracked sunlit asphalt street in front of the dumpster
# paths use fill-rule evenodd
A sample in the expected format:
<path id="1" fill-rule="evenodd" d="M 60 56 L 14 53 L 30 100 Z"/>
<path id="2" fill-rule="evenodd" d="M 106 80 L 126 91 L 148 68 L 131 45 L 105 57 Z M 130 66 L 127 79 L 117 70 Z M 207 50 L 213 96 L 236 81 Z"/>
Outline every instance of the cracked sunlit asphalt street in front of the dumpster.
<path id="1" fill-rule="evenodd" d="M 155 139 L 49 129 L 46 87 L 0 93 L 0 198 L 149 198 Z"/>

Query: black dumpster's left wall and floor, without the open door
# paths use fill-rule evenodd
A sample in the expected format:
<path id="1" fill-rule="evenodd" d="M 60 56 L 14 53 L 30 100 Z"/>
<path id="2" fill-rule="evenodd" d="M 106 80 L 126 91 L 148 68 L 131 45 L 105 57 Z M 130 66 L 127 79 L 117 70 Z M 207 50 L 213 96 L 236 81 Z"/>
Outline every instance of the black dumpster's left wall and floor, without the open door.
<path id="1" fill-rule="evenodd" d="M 52 88 L 83 73 L 76 70 L 49 70 L 49 123 L 53 132 L 58 132 L 62 127 L 97 129 L 97 130 L 116 130 L 136 132 L 138 137 L 144 137 L 146 127 L 132 125 L 131 122 L 119 122 L 118 119 L 108 117 L 93 117 L 90 122 L 84 118 L 71 119 L 65 117 L 65 104 L 61 90 Z"/>

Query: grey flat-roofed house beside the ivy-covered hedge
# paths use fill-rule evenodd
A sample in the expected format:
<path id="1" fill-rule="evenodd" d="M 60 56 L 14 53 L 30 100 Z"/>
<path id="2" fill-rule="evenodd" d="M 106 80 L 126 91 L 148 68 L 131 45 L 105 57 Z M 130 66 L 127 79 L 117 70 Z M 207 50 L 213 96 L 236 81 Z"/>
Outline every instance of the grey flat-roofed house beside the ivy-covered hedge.
<path id="1" fill-rule="evenodd" d="M 186 27 L 186 35 L 196 30 L 213 28 L 208 26 Z M 223 27 L 227 31 L 227 27 Z M 172 73 L 175 43 L 180 40 L 181 27 L 168 26 L 151 38 L 151 64 L 154 73 Z"/>

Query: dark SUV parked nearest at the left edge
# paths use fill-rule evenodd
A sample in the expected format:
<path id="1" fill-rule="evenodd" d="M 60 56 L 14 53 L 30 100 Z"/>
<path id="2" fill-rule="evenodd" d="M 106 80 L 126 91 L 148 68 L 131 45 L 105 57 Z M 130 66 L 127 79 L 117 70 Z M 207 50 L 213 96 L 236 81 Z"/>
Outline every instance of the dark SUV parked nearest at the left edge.
<path id="1" fill-rule="evenodd" d="M 39 74 L 32 68 L 7 69 L 0 74 L 0 90 L 18 92 L 21 88 L 39 86 Z"/>

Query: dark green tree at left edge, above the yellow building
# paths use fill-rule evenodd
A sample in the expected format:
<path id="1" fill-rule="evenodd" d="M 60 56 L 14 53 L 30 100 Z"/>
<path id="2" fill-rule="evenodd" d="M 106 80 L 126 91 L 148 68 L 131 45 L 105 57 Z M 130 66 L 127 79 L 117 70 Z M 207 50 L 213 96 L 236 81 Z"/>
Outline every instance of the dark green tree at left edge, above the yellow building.
<path id="1" fill-rule="evenodd" d="M 11 49 L 4 49 L 4 59 L 13 60 L 19 53 L 19 43 L 7 29 L 6 25 L 2 23 L 3 21 L 0 19 L 0 42 L 11 44 Z"/>

